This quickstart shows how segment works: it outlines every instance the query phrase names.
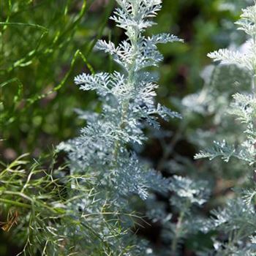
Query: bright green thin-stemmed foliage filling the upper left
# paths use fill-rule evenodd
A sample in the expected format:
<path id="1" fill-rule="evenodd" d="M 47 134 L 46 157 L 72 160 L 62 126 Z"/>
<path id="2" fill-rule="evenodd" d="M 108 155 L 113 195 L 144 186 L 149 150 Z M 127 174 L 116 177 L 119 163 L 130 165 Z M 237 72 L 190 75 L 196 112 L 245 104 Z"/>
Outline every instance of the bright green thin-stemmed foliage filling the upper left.
<path id="1" fill-rule="evenodd" d="M 75 135 L 78 122 L 72 108 L 78 107 L 78 101 L 69 97 L 71 91 L 76 94 L 70 84 L 77 67 L 92 69 L 86 58 L 106 23 L 96 12 L 94 22 L 87 25 L 92 4 L 80 0 L 1 1 L 0 136 L 4 139 L 1 150 L 8 149 L 6 159 L 26 151 L 38 157 L 52 144 Z M 110 1 L 105 15 L 112 8 Z M 101 29 L 99 33 L 96 27 Z"/>

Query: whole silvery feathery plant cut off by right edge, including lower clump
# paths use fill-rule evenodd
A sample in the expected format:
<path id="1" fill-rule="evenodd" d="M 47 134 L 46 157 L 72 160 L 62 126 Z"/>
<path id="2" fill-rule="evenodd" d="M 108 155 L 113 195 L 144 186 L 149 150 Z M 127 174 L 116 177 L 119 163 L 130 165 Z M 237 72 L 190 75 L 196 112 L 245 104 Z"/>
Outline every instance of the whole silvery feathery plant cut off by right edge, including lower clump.
<path id="1" fill-rule="evenodd" d="M 244 31 L 249 37 L 246 49 L 217 50 L 208 56 L 214 61 L 225 65 L 236 65 L 244 69 L 251 80 L 251 88 L 237 92 L 233 95 L 233 102 L 227 113 L 236 116 L 236 125 L 241 125 L 243 131 L 234 144 L 227 140 L 214 141 L 214 146 L 208 150 L 200 151 L 195 159 L 221 157 L 229 162 L 236 157 L 247 165 L 249 181 L 244 181 L 235 189 L 235 197 L 227 201 L 225 208 L 213 211 L 213 218 L 209 221 L 208 230 L 219 230 L 225 234 L 224 239 L 214 240 L 214 251 L 202 255 L 255 255 L 255 164 L 256 164 L 256 3 L 243 10 L 241 19 L 236 23 L 238 29 Z M 228 85 L 227 85 L 228 86 Z M 241 182 L 240 182 L 241 183 Z"/>

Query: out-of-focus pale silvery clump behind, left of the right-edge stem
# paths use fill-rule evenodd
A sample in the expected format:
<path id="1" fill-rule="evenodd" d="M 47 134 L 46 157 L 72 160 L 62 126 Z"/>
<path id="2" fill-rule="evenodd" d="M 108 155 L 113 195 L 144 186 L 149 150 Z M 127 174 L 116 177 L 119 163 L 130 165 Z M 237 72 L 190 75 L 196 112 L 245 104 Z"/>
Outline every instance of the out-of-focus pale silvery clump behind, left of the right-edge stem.
<path id="1" fill-rule="evenodd" d="M 214 115 L 214 124 L 222 120 L 223 108 L 227 108 L 236 89 L 246 90 L 251 83 L 246 70 L 236 65 L 208 65 L 201 73 L 204 86 L 199 92 L 182 99 L 184 112 L 195 112 L 203 116 Z M 227 86 L 228 85 L 228 86 Z"/>

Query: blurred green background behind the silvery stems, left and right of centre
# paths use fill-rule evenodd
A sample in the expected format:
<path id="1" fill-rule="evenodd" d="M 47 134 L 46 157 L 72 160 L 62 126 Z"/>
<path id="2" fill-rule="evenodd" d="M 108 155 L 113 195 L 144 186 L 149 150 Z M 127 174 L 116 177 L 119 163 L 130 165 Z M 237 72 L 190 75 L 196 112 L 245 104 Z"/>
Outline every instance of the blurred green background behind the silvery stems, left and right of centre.
<path id="1" fill-rule="evenodd" d="M 206 54 L 240 44 L 244 37 L 233 21 L 246 1 L 163 0 L 157 26 L 184 44 L 161 45 L 158 100 L 171 104 L 203 86 Z M 97 107 L 96 96 L 79 91 L 73 78 L 81 72 L 114 69 L 110 57 L 93 50 L 99 38 L 118 42 L 124 35 L 108 20 L 113 0 L 0 0 L 0 159 L 10 162 L 29 152 L 37 158 L 59 142 L 78 135 L 82 122 L 75 108 Z M 199 119 L 195 127 L 200 127 Z M 178 121 L 165 125 L 175 131 Z M 186 142 L 185 142 L 186 143 Z M 149 145 L 149 144 L 148 144 Z M 195 148 L 178 149 L 192 159 Z M 161 151 L 146 157 L 161 158 Z M 0 216 L 1 221 L 1 216 Z M 15 241 L 0 231 L 0 255 L 15 255 Z"/>

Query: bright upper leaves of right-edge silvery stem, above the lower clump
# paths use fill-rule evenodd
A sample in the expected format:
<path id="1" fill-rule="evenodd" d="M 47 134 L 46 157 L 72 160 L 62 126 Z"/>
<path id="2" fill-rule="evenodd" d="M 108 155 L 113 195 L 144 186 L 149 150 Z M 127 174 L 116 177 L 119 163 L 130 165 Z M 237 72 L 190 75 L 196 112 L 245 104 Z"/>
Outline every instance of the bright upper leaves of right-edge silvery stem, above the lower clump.
<path id="1" fill-rule="evenodd" d="M 252 83 L 252 94 L 235 94 L 233 95 L 234 102 L 230 105 L 229 112 L 235 115 L 241 123 L 246 124 L 245 135 L 246 138 L 241 143 L 241 146 L 229 146 L 226 141 L 215 143 L 215 147 L 210 151 L 201 151 L 196 158 L 209 157 L 214 158 L 221 155 L 226 161 L 231 156 L 244 159 L 250 165 L 255 163 L 255 138 L 254 138 L 254 117 L 255 117 L 255 36 L 256 30 L 252 28 L 255 26 L 256 7 L 247 7 L 241 15 L 241 20 L 238 21 L 239 29 L 246 31 L 251 37 L 246 45 L 246 50 L 243 53 L 239 51 L 221 49 L 209 53 L 208 56 L 214 61 L 221 61 L 225 64 L 236 64 L 248 72 Z"/>

